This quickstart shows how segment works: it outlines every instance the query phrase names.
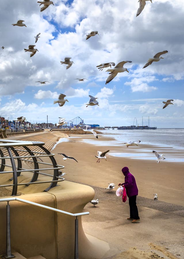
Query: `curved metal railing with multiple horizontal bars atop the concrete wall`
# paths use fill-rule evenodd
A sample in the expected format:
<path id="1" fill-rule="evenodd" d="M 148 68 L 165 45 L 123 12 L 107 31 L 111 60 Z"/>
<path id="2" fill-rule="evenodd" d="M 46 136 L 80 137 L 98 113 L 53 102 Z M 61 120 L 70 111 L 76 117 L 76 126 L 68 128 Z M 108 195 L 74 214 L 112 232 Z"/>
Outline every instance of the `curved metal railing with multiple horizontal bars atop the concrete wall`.
<path id="1" fill-rule="evenodd" d="M 45 147 L 43 147 L 44 142 L 36 142 L 36 141 L 20 141 L 20 140 L 0 140 L 0 174 L 5 173 L 13 173 L 13 177 L 10 180 L 13 180 L 13 184 L 4 184 L 0 185 L 0 187 L 13 186 L 12 188 L 12 196 L 17 195 L 17 189 L 19 185 L 29 186 L 30 184 L 41 184 L 41 183 L 51 183 L 48 188 L 44 191 L 49 191 L 51 188 L 57 186 L 57 182 L 64 181 L 64 178 L 60 176 L 61 168 L 64 168 L 63 165 L 58 165 L 55 161 L 54 154 L 50 153 Z M 18 149 L 18 147 L 22 146 L 24 149 Z M 41 152 L 31 150 L 29 147 L 37 146 Z M 44 157 L 49 157 L 51 163 L 45 163 L 42 159 Z M 42 159 L 41 159 L 42 158 Z M 11 165 L 6 163 L 7 160 L 10 159 Z M 40 161 L 38 161 L 41 160 Z M 34 169 L 26 169 L 22 166 L 22 161 L 32 162 L 34 163 Z M 39 168 L 39 165 L 47 165 L 47 168 Z M 48 167 L 51 166 L 51 167 Z M 5 167 L 11 167 L 12 170 L 4 171 Z M 53 170 L 53 175 L 46 174 L 41 171 Z M 31 172 L 33 174 L 30 182 L 20 184 L 18 183 L 18 177 L 21 175 L 21 172 Z M 39 174 L 46 175 L 52 177 L 51 181 L 39 181 Z"/>

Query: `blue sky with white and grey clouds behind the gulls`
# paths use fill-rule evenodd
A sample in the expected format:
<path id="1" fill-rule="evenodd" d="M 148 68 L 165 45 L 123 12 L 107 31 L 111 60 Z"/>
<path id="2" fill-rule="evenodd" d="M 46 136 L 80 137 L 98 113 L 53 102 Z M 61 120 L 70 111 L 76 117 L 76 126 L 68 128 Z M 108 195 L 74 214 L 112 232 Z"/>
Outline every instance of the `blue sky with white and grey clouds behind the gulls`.
<path id="1" fill-rule="evenodd" d="M 146 1 L 137 17 L 137 0 L 53 3 L 40 12 L 37 0 L 1 1 L 0 116 L 24 116 L 32 123 L 47 123 L 47 115 L 48 123 L 80 117 L 100 126 L 129 126 L 134 118 L 148 125 L 149 117 L 151 127 L 184 128 L 183 0 Z M 18 20 L 27 27 L 11 25 Z M 99 35 L 86 40 L 91 31 Z M 38 49 L 33 57 L 24 52 L 28 45 Z M 164 59 L 143 68 L 164 50 Z M 65 57 L 74 62 L 67 70 L 60 63 Z M 124 60 L 132 61 L 124 65 L 129 73 L 106 84 L 108 68 L 96 66 Z M 59 94 L 68 100 L 62 107 L 53 104 Z M 89 95 L 99 106 L 86 107 Z M 163 109 L 169 99 L 174 105 Z"/>

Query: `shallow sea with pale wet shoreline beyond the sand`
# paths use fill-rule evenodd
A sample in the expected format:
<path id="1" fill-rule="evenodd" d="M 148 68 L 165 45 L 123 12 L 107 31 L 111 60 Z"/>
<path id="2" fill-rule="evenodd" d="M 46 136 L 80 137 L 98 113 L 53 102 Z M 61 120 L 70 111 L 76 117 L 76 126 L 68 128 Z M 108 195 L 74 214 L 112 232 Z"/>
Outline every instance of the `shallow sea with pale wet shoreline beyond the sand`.
<path id="1" fill-rule="evenodd" d="M 110 149 L 109 155 L 116 157 L 129 157 L 131 159 L 150 159 L 156 160 L 152 153 L 157 151 L 159 154 L 165 154 L 165 160 L 168 162 L 184 162 L 184 128 L 160 128 L 160 129 L 133 129 L 133 130 L 100 130 L 101 134 L 97 138 L 86 138 L 84 135 L 82 142 L 96 146 L 105 146 L 104 150 Z M 104 141 L 100 137 L 111 138 Z M 71 138 L 77 138 L 70 137 Z M 81 137 L 79 137 L 81 138 Z M 114 140 L 112 140 L 114 138 Z M 60 139 L 59 142 L 69 139 Z M 124 148 L 125 142 L 141 140 L 137 146 Z M 57 142 L 58 144 L 58 142 Z M 145 145 L 145 146 L 144 146 Z M 117 147 L 117 148 L 114 148 Z M 123 147 L 123 148 L 122 148 Z M 126 152 L 127 150 L 127 152 Z M 160 161 L 163 163 L 164 161 Z"/>

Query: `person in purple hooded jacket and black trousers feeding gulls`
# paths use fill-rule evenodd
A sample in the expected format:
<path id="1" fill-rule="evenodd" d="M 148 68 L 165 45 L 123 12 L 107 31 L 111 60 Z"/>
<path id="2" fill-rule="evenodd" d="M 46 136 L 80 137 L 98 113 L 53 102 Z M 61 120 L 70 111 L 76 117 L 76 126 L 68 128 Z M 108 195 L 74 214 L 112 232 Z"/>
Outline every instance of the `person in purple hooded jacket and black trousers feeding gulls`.
<path id="1" fill-rule="evenodd" d="M 135 223 L 140 220 L 139 213 L 136 205 L 136 198 L 138 195 L 138 188 L 135 181 L 135 177 L 129 172 L 128 167 L 122 168 L 122 173 L 124 174 L 124 183 L 118 184 L 118 186 L 123 186 L 126 189 L 127 196 L 129 197 L 129 206 L 130 206 L 130 218 L 127 220 L 132 220 L 132 223 Z"/>

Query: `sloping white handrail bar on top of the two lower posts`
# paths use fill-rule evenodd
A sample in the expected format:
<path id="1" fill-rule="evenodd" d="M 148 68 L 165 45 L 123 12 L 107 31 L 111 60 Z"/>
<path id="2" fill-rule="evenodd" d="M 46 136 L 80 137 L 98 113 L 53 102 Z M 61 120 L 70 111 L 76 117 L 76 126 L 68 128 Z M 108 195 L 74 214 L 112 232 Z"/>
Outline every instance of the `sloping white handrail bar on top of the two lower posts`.
<path id="1" fill-rule="evenodd" d="M 52 208 L 52 207 L 49 207 L 49 206 L 46 206 L 46 205 L 35 203 L 33 201 L 27 201 L 27 200 L 20 199 L 20 198 L 17 198 L 17 197 L 0 199 L 0 202 L 2 202 L 2 201 L 20 201 L 20 202 L 24 202 L 24 203 L 27 203 L 27 204 L 35 205 L 37 207 L 41 207 L 41 208 L 44 208 L 44 209 L 47 209 L 47 210 L 53 210 L 55 212 L 59 212 L 59 213 L 62 213 L 62 214 L 73 216 L 73 217 L 89 215 L 89 212 L 81 212 L 81 213 L 74 213 L 73 214 L 73 213 L 70 213 L 70 212 L 67 212 L 67 211 L 64 211 L 64 210 L 58 210 L 58 209 L 55 209 L 55 208 Z"/>

